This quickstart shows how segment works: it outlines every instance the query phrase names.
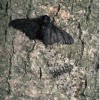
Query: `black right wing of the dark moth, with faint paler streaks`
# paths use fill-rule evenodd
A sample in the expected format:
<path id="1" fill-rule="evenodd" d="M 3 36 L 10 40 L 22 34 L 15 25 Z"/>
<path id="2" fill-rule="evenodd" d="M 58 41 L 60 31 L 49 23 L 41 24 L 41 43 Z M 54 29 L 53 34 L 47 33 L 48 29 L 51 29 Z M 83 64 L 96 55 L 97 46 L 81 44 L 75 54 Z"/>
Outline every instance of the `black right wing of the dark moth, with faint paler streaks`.
<path id="1" fill-rule="evenodd" d="M 46 45 L 51 45 L 54 43 L 60 44 L 73 44 L 74 40 L 71 35 L 67 32 L 58 28 L 53 23 L 50 23 L 48 26 L 43 30 L 44 38 L 43 42 Z"/>

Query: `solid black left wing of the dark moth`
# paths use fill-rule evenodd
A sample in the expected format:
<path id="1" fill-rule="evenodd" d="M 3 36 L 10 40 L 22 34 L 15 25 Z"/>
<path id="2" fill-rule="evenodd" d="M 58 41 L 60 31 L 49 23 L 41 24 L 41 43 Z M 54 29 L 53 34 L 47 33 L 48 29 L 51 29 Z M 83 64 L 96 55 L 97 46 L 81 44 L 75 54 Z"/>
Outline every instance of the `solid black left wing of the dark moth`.
<path id="1" fill-rule="evenodd" d="M 40 39 L 42 38 L 42 34 L 40 34 L 41 29 L 41 21 L 40 18 L 33 19 L 15 19 L 9 23 L 15 29 L 18 29 L 25 33 L 31 40 L 32 39 Z"/>

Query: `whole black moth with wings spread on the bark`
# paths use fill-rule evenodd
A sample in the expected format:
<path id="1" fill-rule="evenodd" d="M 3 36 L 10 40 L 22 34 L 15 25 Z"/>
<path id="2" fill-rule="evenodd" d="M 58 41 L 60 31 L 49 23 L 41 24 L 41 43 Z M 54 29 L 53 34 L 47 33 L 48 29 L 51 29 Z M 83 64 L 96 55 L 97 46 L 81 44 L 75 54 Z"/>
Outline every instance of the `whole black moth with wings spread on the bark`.
<path id="1" fill-rule="evenodd" d="M 45 45 L 74 43 L 72 36 L 55 26 L 47 15 L 33 19 L 15 19 L 9 26 L 24 32 L 31 40 L 41 40 Z"/>

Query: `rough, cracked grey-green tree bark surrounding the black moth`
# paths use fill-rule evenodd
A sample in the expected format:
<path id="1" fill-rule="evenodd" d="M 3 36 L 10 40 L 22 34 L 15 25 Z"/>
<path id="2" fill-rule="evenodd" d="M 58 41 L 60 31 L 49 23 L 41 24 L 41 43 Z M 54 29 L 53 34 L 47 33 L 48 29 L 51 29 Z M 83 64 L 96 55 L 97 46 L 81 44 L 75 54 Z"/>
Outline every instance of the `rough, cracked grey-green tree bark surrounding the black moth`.
<path id="1" fill-rule="evenodd" d="M 0 100 L 98 100 L 98 0 L 0 0 Z M 73 45 L 45 48 L 8 26 L 50 15 Z"/>

